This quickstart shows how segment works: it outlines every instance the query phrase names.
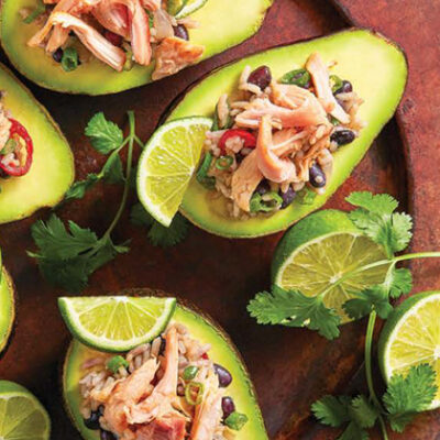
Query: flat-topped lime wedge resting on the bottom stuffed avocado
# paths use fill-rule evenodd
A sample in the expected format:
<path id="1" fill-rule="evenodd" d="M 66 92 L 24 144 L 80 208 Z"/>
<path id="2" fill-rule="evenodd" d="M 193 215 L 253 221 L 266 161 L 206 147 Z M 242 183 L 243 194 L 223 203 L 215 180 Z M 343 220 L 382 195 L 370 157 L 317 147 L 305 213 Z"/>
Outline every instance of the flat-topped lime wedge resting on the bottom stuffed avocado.
<path id="1" fill-rule="evenodd" d="M 129 351 L 158 337 L 176 308 L 176 298 L 76 297 L 58 298 L 72 334 L 94 349 Z"/>

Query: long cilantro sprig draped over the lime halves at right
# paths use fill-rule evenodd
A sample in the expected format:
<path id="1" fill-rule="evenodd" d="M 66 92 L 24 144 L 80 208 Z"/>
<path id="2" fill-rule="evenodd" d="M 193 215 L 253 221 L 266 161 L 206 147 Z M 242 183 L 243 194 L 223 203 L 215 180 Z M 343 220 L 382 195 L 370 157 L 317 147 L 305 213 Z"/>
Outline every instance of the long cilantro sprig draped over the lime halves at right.
<path id="1" fill-rule="evenodd" d="M 392 430 L 403 432 L 414 416 L 429 406 L 438 387 L 433 369 L 429 364 L 421 364 L 409 369 L 405 376 L 393 376 L 382 400 L 377 397 L 372 373 L 376 318 L 378 316 L 387 319 L 393 310 L 392 300 L 409 294 L 413 288 L 410 271 L 405 267 L 397 268 L 396 265 L 414 258 L 439 257 L 440 252 L 395 255 L 409 244 L 413 220 L 407 213 L 396 212 L 398 202 L 392 196 L 361 191 L 351 194 L 346 200 L 355 207 L 349 213 L 349 218 L 366 237 L 384 248 L 387 258 L 346 272 L 311 297 L 297 290 L 284 290 L 273 286 L 271 293 L 258 293 L 250 301 L 248 310 L 258 323 L 307 327 L 317 330 L 327 339 L 334 339 L 339 336 L 340 318 L 336 310 L 324 306 L 326 294 L 353 275 L 386 265 L 383 283 L 367 286 L 361 292 L 350 292 L 352 298 L 342 305 L 345 314 L 352 319 L 369 316 L 364 352 L 369 396 L 324 396 L 316 402 L 311 409 L 321 424 L 344 428 L 339 440 L 369 439 L 367 429 L 377 422 L 383 438 L 387 440 L 386 421 Z"/>

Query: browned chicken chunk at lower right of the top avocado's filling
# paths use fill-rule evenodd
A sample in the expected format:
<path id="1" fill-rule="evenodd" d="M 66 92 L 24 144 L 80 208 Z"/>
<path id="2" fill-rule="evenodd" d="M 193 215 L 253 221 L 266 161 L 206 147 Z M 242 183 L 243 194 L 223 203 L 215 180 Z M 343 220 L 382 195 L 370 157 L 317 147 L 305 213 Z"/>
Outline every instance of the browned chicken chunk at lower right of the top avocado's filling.
<path id="1" fill-rule="evenodd" d="M 156 48 L 156 67 L 153 79 L 174 75 L 183 68 L 198 62 L 204 54 L 204 46 L 193 44 L 175 36 L 167 37 Z"/>

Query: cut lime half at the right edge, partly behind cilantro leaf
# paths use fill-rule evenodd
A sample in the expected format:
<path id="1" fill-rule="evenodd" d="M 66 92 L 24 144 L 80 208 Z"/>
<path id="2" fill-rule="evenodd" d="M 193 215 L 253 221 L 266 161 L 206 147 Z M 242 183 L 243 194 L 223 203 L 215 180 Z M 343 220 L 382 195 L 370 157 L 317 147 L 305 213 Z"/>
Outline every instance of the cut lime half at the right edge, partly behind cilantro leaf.
<path id="1" fill-rule="evenodd" d="M 440 293 L 414 295 L 388 317 L 378 342 L 385 382 L 405 375 L 411 366 L 430 364 L 437 373 L 438 393 L 426 409 L 440 407 Z"/>

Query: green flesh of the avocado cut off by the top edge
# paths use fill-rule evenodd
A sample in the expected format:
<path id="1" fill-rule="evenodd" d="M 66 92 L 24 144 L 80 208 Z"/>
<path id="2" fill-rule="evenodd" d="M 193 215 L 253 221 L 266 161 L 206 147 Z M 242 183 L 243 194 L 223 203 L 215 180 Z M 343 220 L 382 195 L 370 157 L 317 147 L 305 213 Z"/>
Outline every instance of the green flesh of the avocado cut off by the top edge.
<path id="1" fill-rule="evenodd" d="M 273 0 L 209 0 L 190 15 L 200 23 L 189 31 L 191 43 L 205 46 L 202 59 L 240 44 L 260 29 Z M 26 45 L 38 26 L 25 24 L 19 11 L 34 9 L 36 0 L 4 0 L 1 8 L 1 44 L 15 67 L 40 86 L 70 94 L 107 95 L 151 82 L 153 66 L 134 66 L 118 73 L 94 58 L 66 73 L 43 48 Z"/>

